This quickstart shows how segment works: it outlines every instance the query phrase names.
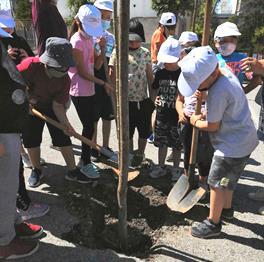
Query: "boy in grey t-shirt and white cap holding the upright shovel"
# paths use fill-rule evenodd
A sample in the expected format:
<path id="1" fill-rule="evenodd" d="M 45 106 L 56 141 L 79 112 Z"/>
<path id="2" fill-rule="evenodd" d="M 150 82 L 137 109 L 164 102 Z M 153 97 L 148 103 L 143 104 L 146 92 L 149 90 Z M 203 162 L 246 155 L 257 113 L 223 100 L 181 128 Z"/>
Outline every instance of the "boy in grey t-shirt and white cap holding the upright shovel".
<path id="1" fill-rule="evenodd" d="M 207 120 L 192 115 L 191 124 L 210 132 L 214 148 L 210 168 L 210 214 L 191 234 L 209 238 L 221 233 L 221 214 L 233 213 L 233 192 L 247 160 L 256 148 L 257 132 L 251 119 L 247 98 L 237 78 L 228 70 L 220 70 L 211 47 L 193 49 L 180 64 L 179 91 L 191 96 L 196 90 L 208 90 Z"/>

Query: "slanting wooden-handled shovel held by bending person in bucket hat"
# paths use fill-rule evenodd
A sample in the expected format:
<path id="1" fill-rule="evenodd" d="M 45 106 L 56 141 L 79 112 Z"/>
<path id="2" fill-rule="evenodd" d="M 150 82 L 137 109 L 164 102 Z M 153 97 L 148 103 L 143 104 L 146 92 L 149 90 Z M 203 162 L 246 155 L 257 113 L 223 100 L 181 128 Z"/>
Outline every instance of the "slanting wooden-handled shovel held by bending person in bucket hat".
<path id="1" fill-rule="evenodd" d="M 64 127 L 61 123 L 59 123 L 59 122 L 57 122 L 57 121 L 55 121 L 55 120 L 53 120 L 53 119 L 51 119 L 51 118 L 49 118 L 49 117 L 47 117 L 47 116 L 41 114 L 41 113 L 40 113 L 39 111 L 37 111 L 36 109 L 32 108 L 32 109 L 31 109 L 31 112 L 33 113 L 33 115 L 35 115 L 35 116 L 41 118 L 42 120 L 44 120 L 44 121 L 48 122 L 49 124 L 51 124 L 51 125 L 57 127 L 58 129 L 60 129 L 60 130 L 62 130 L 62 131 L 65 130 L 65 127 Z M 78 133 L 76 133 L 76 132 L 74 133 L 73 136 L 74 136 L 76 139 L 78 139 L 78 140 L 80 140 L 81 142 L 83 142 L 84 144 L 86 144 L 86 145 L 92 147 L 93 149 L 97 150 L 97 151 L 100 152 L 101 154 L 104 154 L 105 156 L 109 157 L 109 158 L 110 158 L 110 161 L 108 162 L 109 165 L 110 165 L 110 163 L 114 165 L 114 167 L 111 166 L 112 170 L 114 171 L 114 173 L 115 173 L 117 176 L 120 175 L 120 171 L 116 168 L 118 165 L 117 165 L 117 163 L 114 161 L 115 158 L 116 158 L 115 153 L 113 153 L 112 151 L 108 150 L 108 149 L 105 148 L 105 147 L 99 146 L 98 144 L 92 142 L 90 139 L 88 139 L 88 138 L 86 138 L 86 137 L 84 137 L 84 136 L 82 136 L 82 135 L 80 135 L 80 134 L 78 134 Z M 112 160 L 111 160 L 111 158 L 112 158 Z M 128 181 L 132 181 L 132 180 L 134 180 L 138 175 L 139 175 L 139 171 L 138 171 L 138 170 L 135 170 L 135 169 L 133 169 L 133 168 L 130 168 L 130 170 L 129 170 L 129 172 L 128 172 Z"/>

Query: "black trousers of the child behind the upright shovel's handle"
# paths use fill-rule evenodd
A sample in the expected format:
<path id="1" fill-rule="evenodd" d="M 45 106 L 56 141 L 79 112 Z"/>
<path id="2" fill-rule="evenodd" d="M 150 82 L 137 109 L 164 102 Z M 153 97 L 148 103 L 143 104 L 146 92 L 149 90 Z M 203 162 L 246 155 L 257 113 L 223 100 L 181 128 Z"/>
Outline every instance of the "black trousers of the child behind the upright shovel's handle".
<path id="1" fill-rule="evenodd" d="M 189 168 L 193 126 L 190 123 L 182 124 L 179 131 L 184 148 L 184 169 Z M 199 131 L 197 148 L 197 165 L 200 176 L 209 175 L 214 149 L 211 145 L 208 132 Z"/>

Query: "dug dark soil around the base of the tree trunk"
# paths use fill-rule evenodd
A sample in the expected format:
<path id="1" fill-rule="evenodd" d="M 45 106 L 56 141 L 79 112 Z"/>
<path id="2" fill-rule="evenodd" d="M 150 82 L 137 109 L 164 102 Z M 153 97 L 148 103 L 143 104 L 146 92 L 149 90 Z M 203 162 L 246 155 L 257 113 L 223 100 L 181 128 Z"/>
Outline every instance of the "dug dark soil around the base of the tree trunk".
<path id="1" fill-rule="evenodd" d="M 197 211 L 201 217 L 207 209 L 196 206 L 188 215 L 171 212 L 166 206 L 166 198 L 172 188 L 171 176 L 151 179 L 149 163 L 140 169 L 140 175 L 129 182 L 128 205 L 128 245 L 120 248 L 118 241 L 117 179 L 109 167 L 102 165 L 101 178 L 92 185 L 67 184 L 61 192 L 70 213 L 79 218 L 70 232 L 63 238 L 75 244 L 92 249 L 114 249 L 127 255 L 147 258 L 151 247 L 160 236 L 178 226 L 190 225 Z M 176 227 L 176 228 L 175 228 Z"/>

